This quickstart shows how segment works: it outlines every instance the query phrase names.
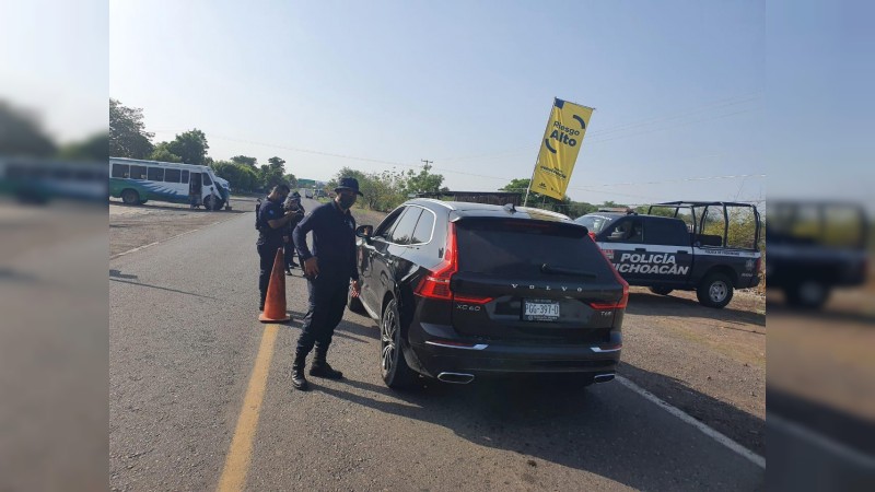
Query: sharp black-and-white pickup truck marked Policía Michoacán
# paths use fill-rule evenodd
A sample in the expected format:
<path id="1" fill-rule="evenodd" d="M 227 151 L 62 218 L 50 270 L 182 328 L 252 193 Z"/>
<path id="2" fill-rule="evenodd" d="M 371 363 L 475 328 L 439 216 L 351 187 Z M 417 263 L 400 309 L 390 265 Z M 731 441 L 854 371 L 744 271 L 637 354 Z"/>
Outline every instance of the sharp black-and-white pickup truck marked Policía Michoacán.
<path id="1" fill-rule="evenodd" d="M 653 207 L 674 209 L 674 216 L 650 214 Z M 751 208 L 756 231 L 745 247 L 727 246 L 727 209 Z M 648 214 L 631 211 L 599 211 L 575 222 L 590 230 L 614 267 L 630 285 L 649 286 L 668 295 L 673 290 L 695 290 L 699 302 L 724 307 L 734 289 L 755 286 L 760 281 L 759 213 L 756 207 L 731 202 L 668 202 L 652 206 Z M 678 215 L 680 210 L 688 211 Z M 723 234 L 700 234 L 707 223 L 724 219 Z M 707 222 L 708 221 L 708 222 Z"/>

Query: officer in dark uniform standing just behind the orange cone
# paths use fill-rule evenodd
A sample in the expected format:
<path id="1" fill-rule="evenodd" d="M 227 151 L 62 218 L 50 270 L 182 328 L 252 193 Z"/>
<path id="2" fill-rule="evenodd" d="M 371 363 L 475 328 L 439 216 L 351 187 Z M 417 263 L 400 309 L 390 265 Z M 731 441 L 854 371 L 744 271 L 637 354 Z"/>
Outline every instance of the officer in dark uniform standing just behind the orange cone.
<path id="1" fill-rule="evenodd" d="M 282 236 L 285 234 L 289 222 L 294 219 L 294 212 L 283 212 L 282 210 L 282 201 L 287 196 L 289 196 L 289 187 L 277 185 L 258 209 L 258 242 L 256 246 L 260 258 L 258 274 L 258 290 L 261 291 L 261 302 L 258 304 L 260 311 L 265 311 L 267 284 L 270 281 L 270 271 L 273 269 L 277 249 L 282 247 Z"/>

